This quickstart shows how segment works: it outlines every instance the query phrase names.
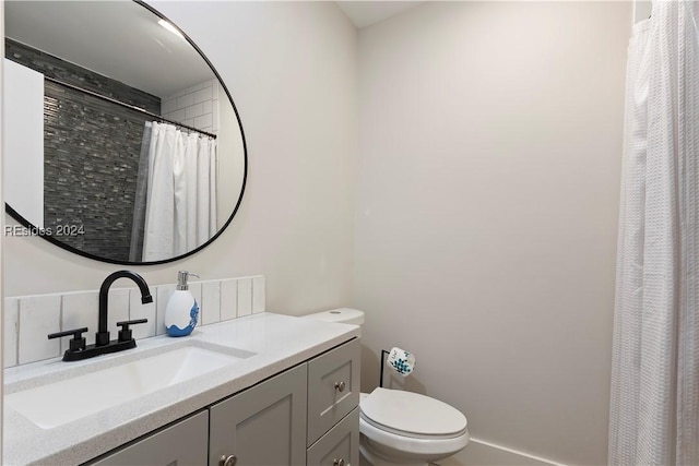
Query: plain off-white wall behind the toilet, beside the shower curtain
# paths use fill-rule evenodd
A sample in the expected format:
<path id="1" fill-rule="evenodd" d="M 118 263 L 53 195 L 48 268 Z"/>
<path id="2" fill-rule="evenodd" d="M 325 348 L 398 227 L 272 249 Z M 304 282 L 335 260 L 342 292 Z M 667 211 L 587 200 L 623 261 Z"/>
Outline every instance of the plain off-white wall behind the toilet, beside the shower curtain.
<path id="1" fill-rule="evenodd" d="M 428 2 L 359 34 L 354 301 L 474 437 L 606 464 L 630 2 Z"/>

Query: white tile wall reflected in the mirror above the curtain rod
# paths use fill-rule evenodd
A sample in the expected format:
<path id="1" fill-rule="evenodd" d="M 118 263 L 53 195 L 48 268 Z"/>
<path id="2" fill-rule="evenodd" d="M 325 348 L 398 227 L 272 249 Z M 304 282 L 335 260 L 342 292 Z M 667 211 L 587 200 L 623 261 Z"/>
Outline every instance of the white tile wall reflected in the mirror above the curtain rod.
<path id="1" fill-rule="evenodd" d="M 161 111 L 167 119 L 217 134 L 218 95 L 218 82 L 204 81 L 164 98 Z"/>

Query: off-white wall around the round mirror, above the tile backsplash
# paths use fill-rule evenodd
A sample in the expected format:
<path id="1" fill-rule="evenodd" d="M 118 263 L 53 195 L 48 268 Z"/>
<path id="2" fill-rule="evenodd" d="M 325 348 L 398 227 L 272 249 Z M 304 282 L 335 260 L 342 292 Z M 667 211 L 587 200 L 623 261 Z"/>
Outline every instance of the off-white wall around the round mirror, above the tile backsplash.
<path id="1" fill-rule="evenodd" d="M 264 274 L 268 308 L 288 313 L 348 302 L 356 31 L 330 2 L 153 4 L 226 82 L 242 120 L 249 174 L 236 218 L 211 247 L 170 265 L 130 268 L 154 285 L 174 283 L 182 268 L 202 279 Z M 96 289 L 121 268 L 39 238 L 5 237 L 3 255 L 5 296 Z"/>

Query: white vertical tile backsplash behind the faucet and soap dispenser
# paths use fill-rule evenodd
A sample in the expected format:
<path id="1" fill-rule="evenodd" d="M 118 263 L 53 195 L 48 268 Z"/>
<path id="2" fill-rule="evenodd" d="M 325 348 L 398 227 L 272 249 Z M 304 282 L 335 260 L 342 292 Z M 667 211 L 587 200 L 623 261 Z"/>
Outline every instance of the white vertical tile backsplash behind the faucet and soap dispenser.
<path id="1" fill-rule="evenodd" d="M 133 325 L 135 339 L 165 334 L 165 307 L 175 284 L 151 286 L 153 302 L 141 303 L 139 288 L 109 290 L 109 332 L 116 336 L 116 323 L 147 319 Z M 190 282 L 189 290 L 199 302 L 199 325 L 213 324 L 252 313 L 264 312 L 264 276 Z M 99 291 L 8 297 L 4 299 L 4 367 L 25 365 L 60 356 L 70 337 L 48 339 L 49 333 L 88 327 L 83 334 L 95 343 Z"/>

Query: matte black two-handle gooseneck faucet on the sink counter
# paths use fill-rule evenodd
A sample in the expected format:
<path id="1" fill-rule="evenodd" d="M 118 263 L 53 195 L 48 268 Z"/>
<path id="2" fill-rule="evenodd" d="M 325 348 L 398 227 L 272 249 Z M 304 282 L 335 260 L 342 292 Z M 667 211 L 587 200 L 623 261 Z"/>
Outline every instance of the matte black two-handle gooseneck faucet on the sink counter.
<path id="1" fill-rule="evenodd" d="M 129 325 L 147 322 L 147 319 L 117 322 L 117 326 L 121 327 L 119 331 L 119 338 L 112 340 L 109 339 L 109 331 L 107 330 L 107 301 L 109 297 L 109 287 L 118 278 L 131 278 L 141 290 L 141 302 L 144 304 L 153 302 L 151 290 L 141 275 L 131 271 L 117 271 L 107 276 L 99 288 L 99 321 L 97 323 L 97 333 L 95 334 L 95 344 L 85 345 L 85 338 L 82 334 L 87 332 L 87 327 L 69 330 L 48 335 L 49 339 L 73 335 L 73 338 L 70 340 L 69 349 L 63 354 L 64 361 L 79 361 L 92 358 L 93 356 L 135 348 L 135 339 L 133 339 Z"/>

